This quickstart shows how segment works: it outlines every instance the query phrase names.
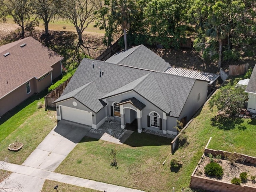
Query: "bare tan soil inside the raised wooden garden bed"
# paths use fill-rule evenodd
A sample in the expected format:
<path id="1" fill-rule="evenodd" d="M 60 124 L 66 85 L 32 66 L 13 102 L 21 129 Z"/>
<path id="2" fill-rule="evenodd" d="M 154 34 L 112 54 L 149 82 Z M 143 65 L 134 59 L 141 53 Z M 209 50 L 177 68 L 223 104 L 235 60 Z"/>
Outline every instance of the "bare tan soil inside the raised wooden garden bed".
<path id="1" fill-rule="evenodd" d="M 241 186 L 252 186 L 256 188 L 256 182 L 253 182 L 250 180 L 250 176 L 256 175 L 256 165 L 255 164 L 250 164 L 250 163 L 234 163 L 234 166 L 230 164 L 228 160 L 218 160 L 217 161 L 220 166 L 222 166 L 224 174 L 222 178 L 217 179 L 214 177 L 209 177 L 206 174 L 204 174 L 204 167 L 210 163 L 210 158 L 207 156 L 204 156 L 204 159 L 200 163 L 200 166 L 198 166 L 198 169 L 196 170 L 195 175 L 202 177 L 202 178 L 207 178 L 207 179 L 212 179 L 212 180 L 218 180 L 222 182 L 227 182 L 231 183 L 232 178 L 236 177 L 239 178 L 240 173 L 242 172 L 247 172 L 248 173 L 248 180 L 246 183 L 241 183 Z"/>

